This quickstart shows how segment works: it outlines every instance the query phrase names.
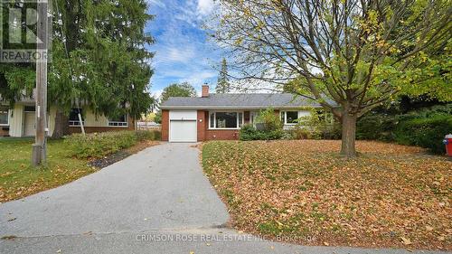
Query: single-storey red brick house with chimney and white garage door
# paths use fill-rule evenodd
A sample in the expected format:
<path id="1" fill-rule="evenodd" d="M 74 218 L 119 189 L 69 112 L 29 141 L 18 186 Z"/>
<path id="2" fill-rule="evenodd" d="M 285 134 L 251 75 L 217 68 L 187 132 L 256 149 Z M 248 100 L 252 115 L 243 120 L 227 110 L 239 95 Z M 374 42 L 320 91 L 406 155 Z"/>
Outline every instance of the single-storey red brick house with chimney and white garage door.
<path id="1" fill-rule="evenodd" d="M 200 142 L 239 138 L 240 127 L 254 124 L 259 111 L 274 108 L 284 128 L 297 124 L 308 116 L 306 108 L 322 108 L 314 101 L 295 98 L 288 93 L 210 94 L 209 86 L 202 86 L 198 98 L 173 97 L 162 109 L 162 140 L 169 142 Z"/>

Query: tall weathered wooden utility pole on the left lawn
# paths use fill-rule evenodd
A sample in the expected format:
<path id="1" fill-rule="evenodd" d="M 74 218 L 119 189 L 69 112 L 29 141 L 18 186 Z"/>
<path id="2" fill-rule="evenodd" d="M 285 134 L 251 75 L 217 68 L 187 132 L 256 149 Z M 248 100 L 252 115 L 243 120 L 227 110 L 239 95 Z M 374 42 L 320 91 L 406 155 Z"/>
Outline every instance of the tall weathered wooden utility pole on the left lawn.
<path id="1" fill-rule="evenodd" d="M 33 144 L 32 165 L 45 164 L 47 157 L 47 46 L 48 46 L 48 4 L 37 0 L 38 23 L 36 43 L 36 135 Z"/>

